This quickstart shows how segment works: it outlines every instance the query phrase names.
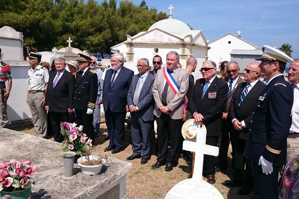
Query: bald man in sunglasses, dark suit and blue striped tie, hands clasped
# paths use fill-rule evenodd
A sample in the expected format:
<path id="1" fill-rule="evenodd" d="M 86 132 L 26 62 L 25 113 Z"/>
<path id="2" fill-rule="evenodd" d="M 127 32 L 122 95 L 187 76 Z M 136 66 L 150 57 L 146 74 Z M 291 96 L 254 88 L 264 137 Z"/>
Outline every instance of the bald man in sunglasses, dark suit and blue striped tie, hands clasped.
<path id="1" fill-rule="evenodd" d="M 234 136 L 234 178 L 231 187 L 243 185 L 238 195 L 247 195 L 253 187 L 253 173 L 251 161 L 243 157 L 243 152 L 251 128 L 252 112 L 260 93 L 266 85 L 260 81 L 259 64 L 251 63 L 244 70 L 244 80 L 246 82 L 238 85 L 232 97 L 229 108 L 229 117 L 234 129 L 231 136 Z M 244 166 L 246 166 L 244 179 Z M 244 182 L 244 183 L 243 183 Z"/>

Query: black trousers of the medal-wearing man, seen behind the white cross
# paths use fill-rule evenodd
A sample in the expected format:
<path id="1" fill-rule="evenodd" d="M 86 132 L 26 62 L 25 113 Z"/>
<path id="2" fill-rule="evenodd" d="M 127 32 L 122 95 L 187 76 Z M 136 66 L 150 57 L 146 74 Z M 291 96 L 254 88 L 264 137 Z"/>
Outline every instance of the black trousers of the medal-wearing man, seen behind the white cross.
<path id="1" fill-rule="evenodd" d="M 206 137 L 206 144 L 211 146 L 216 146 L 218 142 L 219 136 L 207 136 Z M 195 154 L 196 156 L 196 154 Z M 203 170 L 202 175 L 214 175 L 215 174 L 215 156 L 211 155 L 204 155 L 203 156 Z"/>

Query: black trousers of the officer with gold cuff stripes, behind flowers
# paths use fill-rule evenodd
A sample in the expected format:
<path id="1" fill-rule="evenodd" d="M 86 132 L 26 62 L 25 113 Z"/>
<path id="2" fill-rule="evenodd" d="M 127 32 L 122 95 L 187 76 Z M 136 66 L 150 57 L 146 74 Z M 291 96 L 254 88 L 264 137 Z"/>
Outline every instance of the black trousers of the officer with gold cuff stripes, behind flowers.
<path id="1" fill-rule="evenodd" d="M 86 114 L 86 110 L 75 110 L 77 116 L 77 126 L 83 126 L 83 132 L 88 138 L 92 139 L 92 145 L 95 145 L 94 127 L 92 124 L 93 114 Z"/>

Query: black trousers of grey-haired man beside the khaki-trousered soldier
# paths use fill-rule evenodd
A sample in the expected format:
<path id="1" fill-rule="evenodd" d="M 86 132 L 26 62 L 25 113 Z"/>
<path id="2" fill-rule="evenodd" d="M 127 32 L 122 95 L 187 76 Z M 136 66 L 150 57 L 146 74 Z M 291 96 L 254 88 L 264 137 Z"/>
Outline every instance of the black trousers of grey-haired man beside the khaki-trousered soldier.
<path id="1" fill-rule="evenodd" d="M 60 123 L 67 122 L 68 113 L 67 112 L 48 112 L 50 116 L 50 123 L 52 129 L 52 135 L 55 142 L 62 142 L 64 136 L 60 132 Z"/>

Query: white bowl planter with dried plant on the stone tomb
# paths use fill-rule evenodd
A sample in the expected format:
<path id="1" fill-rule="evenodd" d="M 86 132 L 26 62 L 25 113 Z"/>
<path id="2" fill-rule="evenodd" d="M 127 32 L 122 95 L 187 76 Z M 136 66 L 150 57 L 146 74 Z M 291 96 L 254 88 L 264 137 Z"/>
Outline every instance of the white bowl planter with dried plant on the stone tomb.
<path id="1" fill-rule="evenodd" d="M 103 164 L 107 160 L 107 155 L 104 156 L 92 154 L 94 148 L 89 148 L 84 156 L 77 160 L 77 164 L 80 166 L 81 172 L 87 176 L 97 175 L 101 172 Z"/>

